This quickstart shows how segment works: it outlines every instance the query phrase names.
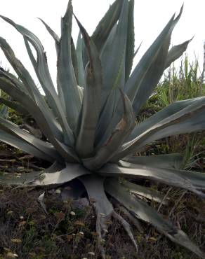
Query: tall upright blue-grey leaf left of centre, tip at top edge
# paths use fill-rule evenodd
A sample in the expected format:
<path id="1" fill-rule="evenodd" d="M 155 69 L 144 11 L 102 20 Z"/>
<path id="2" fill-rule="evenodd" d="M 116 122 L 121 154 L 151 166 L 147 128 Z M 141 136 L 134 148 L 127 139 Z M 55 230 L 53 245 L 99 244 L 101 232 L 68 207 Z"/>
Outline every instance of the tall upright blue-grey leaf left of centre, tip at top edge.
<path id="1" fill-rule="evenodd" d="M 61 33 L 58 55 L 58 83 L 61 89 L 58 93 L 65 106 L 65 113 L 70 127 L 75 131 L 81 99 L 74 74 L 71 52 L 71 29 L 72 29 L 72 1 L 69 1 L 66 13 L 61 22 Z"/>

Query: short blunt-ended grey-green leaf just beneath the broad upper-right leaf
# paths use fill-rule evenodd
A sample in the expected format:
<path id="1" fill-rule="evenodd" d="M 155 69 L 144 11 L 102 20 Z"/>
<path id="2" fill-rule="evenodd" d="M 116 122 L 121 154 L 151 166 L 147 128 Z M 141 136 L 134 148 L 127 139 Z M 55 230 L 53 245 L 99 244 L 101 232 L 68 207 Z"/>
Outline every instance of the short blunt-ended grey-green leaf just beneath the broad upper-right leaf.
<path id="1" fill-rule="evenodd" d="M 166 155 L 142 155 L 142 156 L 128 156 L 123 158 L 125 162 L 138 165 L 148 165 L 152 167 L 167 167 L 180 169 L 183 165 L 183 155 L 178 153 Z M 121 165 L 121 161 L 119 161 Z"/>

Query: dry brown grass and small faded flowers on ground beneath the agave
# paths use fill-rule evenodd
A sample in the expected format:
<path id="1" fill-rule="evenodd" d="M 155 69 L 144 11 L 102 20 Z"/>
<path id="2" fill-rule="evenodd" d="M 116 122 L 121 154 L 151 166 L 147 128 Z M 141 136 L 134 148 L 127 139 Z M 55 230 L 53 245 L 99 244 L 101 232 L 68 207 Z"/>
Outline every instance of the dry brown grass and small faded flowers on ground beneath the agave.
<path id="1" fill-rule="evenodd" d="M 168 191 L 166 186 L 154 188 L 160 189 L 164 195 Z M 58 194 L 47 194 L 46 215 L 37 202 L 41 193 L 42 190 L 1 189 L 0 258 L 6 258 L 10 251 L 22 259 L 100 258 L 92 207 L 74 209 L 72 202 L 62 202 Z M 205 250 L 205 202 L 176 188 L 171 189 L 169 197 L 169 206 L 161 207 L 159 212 L 187 232 Z M 152 206 L 159 208 L 157 203 L 152 203 Z M 74 211 L 75 216 L 70 211 Z M 139 245 L 136 255 L 124 230 L 117 221 L 113 221 L 105 240 L 107 258 L 197 258 L 149 225 L 143 224 L 143 228 L 142 234 L 133 228 Z M 19 243 L 13 239 L 18 239 Z"/>

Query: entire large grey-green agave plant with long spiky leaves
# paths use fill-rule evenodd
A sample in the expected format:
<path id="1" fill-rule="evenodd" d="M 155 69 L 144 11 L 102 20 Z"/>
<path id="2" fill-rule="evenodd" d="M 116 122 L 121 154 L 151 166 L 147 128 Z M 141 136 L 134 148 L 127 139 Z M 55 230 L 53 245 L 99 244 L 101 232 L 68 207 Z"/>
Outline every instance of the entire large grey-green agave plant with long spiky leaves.
<path id="1" fill-rule="evenodd" d="M 205 128 L 204 97 L 175 102 L 143 123 L 135 123 L 135 115 L 152 94 L 164 69 L 182 55 L 190 42 L 175 45 L 169 50 L 171 33 L 183 8 L 177 17 L 171 17 L 132 71 L 135 56 L 133 8 L 134 0 L 114 1 L 92 36 L 88 36 L 74 16 L 72 1 L 69 1 L 61 21 L 60 38 L 42 20 L 55 40 L 57 89 L 51 80 L 46 53 L 39 38 L 25 27 L 1 16 L 22 34 L 45 94 L 41 95 L 10 45 L 0 38 L 1 49 L 18 75 L 17 78 L 4 69 L 0 71 L 1 90 L 15 100 L 15 103 L 5 101 L 5 104 L 29 113 L 46 141 L 3 117 L 0 118 L 0 139 L 54 163 L 44 171 L 22 174 L 18 178 L 1 174 L 0 183 L 59 186 L 79 179 L 95 207 L 99 239 L 106 235 L 106 223 L 114 217 L 121 222 L 138 249 L 130 225 L 114 211 L 114 201 L 114 206 L 120 204 L 134 224 L 137 224 L 137 219 L 151 223 L 172 241 L 204 258 L 204 254 L 182 230 L 140 198 L 166 203 L 160 193 L 140 186 L 138 181 L 157 181 L 204 197 L 204 174 L 180 169 L 183 158 L 179 154 L 133 156 L 157 139 Z M 71 36 L 73 16 L 80 29 L 76 48 Z M 34 47 L 37 57 L 31 47 Z M 81 193 L 78 189 L 74 191 L 77 195 Z M 100 250 L 102 258 L 105 258 L 102 246 Z"/>

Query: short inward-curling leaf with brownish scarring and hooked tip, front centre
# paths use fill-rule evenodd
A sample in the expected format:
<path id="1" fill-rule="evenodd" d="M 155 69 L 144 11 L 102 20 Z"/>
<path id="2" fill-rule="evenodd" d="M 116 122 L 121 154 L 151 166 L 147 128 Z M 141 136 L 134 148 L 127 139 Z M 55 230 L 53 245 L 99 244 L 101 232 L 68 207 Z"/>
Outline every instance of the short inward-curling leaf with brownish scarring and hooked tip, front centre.
<path id="1" fill-rule="evenodd" d="M 106 140 L 105 144 L 98 148 L 96 155 L 93 158 L 83 160 L 84 165 L 91 170 L 102 167 L 102 165 L 112 158 L 135 125 L 135 116 L 133 114 L 131 102 L 122 92 L 121 96 L 124 104 L 124 115 L 120 122 L 117 124 L 110 137 Z"/>

